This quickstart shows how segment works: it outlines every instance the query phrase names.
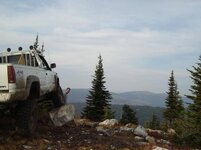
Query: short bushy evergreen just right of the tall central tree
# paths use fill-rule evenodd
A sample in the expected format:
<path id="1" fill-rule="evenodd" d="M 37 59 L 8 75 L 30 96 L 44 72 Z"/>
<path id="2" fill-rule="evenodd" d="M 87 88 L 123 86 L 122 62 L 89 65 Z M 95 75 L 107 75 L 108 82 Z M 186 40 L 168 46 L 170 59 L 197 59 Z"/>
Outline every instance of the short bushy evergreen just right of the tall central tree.
<path id="1" fill-rule="evenodd" d="M 127 123 L 134 123 L 134 124 L 137 124 L 138 123 L 138 120 L 136 118 L 136 112 L 133 111 L 129 105 L 123 105 L 122 107 L 122 117 L 121 117 L 121 120 L 120 122 L 122 124 L 127 124 Z"/>

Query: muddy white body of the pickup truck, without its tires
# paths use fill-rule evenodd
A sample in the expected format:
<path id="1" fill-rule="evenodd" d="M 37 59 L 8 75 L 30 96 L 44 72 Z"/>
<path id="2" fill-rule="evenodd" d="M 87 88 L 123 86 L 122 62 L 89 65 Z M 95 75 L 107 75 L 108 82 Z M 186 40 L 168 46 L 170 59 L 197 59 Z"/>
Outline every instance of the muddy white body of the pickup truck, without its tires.
<path id="1" fill-rule="evenodd" d="M 51 67 L 56 65 L 51 64 Z M 18 51 L 8 49 L 0 53 L 0 102 L 27 99 L 32 80 L 40 85 L 40 97 L 55 90 L 57 73 L 51 67 L 38 50 L 22 51 L 19 48 Z M 8 96 L 5 97 L 5 93 Z"/>

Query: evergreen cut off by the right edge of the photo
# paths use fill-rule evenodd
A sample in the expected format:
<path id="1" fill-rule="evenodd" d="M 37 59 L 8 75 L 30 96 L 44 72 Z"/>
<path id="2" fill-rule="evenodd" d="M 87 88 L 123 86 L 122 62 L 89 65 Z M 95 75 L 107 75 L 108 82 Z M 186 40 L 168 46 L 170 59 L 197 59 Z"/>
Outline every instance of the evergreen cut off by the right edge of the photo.
<path id="1" fill-rule="evenodd" d="M 201 148 L 201 55 L 197 66 L 193 66 L 193 70 L 188 70 L 191 74 L 193 85 L 189 89 L 191 95 L 187 95 L 192 103 L 188 106 L 187 122 L 188 122 L 188 140 L 191 145 Z"/>

